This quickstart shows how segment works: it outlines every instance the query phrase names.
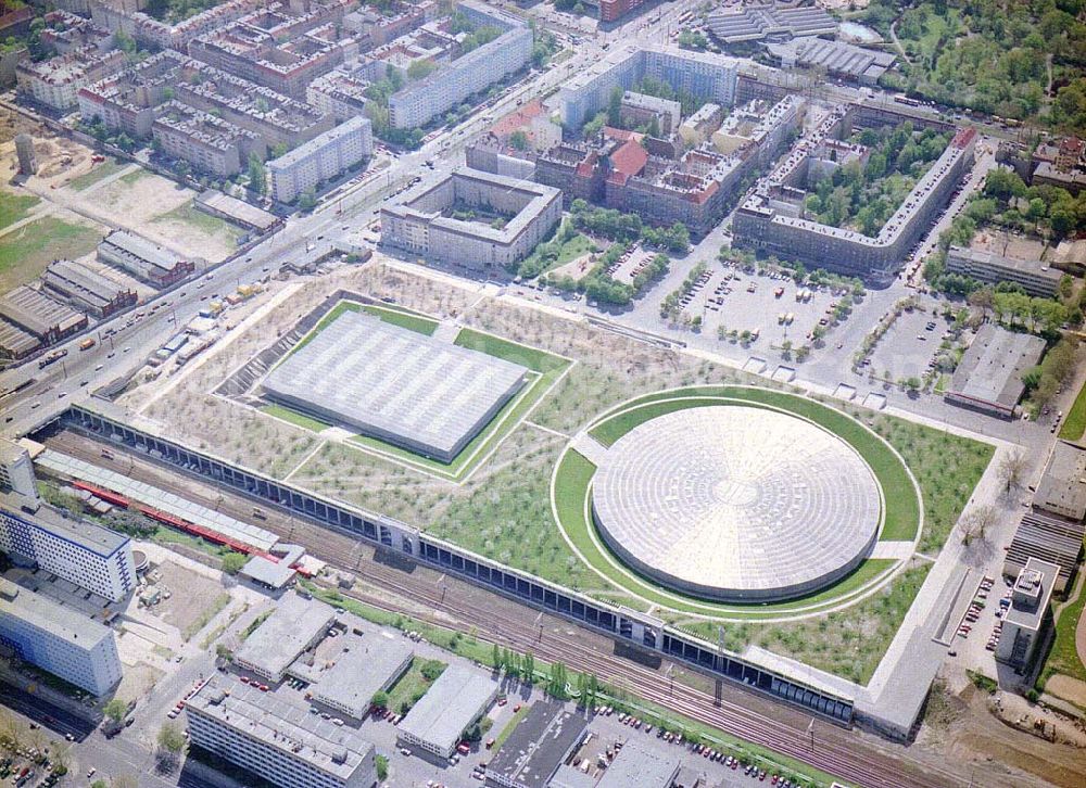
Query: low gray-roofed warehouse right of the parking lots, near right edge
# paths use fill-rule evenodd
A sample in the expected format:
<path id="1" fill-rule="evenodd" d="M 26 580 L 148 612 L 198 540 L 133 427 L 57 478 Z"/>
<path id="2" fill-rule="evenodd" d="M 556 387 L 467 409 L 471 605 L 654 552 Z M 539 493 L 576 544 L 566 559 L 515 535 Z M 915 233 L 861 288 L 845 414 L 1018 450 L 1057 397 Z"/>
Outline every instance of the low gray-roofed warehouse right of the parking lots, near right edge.
<path id="1" fill-rule="evenodd" d="M 950 379 L 949 393 L 973 405 L 1011 410 L 1025 391 L 1022 373 L 1045 352 L 1045 340 L 986 323 Z"/>

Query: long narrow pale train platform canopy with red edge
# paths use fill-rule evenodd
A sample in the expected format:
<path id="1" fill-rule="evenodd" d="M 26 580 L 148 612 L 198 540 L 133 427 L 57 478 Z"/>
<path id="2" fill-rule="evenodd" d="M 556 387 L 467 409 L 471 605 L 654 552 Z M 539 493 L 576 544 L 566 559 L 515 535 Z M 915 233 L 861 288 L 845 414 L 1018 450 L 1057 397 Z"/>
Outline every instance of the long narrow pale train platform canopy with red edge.
<path id="1" fill-rule="evenodd" d="M 279 542 L 276 534 L 257 525 L 236 520 L 220 511 L 201 506 L 179 495 L 167 493 L 146 482 L 137 481 L 108 468 L 99 468 L 53 449 L 46 449 L 35 461 L 54 475 L 86 482 L 92 486 L 131 498 L 199 528 L 214 531 L 253 550 L 268 552 Z"/>

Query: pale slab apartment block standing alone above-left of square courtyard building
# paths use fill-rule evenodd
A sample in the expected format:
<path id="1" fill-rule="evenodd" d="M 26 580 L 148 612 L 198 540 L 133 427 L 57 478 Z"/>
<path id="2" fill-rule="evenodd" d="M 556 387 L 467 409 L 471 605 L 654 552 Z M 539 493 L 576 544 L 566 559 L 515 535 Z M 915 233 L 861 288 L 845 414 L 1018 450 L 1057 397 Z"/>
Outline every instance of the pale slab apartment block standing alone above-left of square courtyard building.
<path id="1" fill-rule="evenodd" d="M 372 124 L 352 117 L 319 137 L 267 163 L 272 196 L 291 203 L 317 185 L 336 178 L 374 153 Z"/>

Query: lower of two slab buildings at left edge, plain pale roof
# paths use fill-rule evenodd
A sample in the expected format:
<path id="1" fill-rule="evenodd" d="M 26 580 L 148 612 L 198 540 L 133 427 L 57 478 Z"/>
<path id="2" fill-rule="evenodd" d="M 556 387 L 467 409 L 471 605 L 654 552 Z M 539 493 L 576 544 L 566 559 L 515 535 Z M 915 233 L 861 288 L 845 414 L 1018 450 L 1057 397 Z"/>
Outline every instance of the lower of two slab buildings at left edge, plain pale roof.
<path id="1" fill-rule="evenodd" d="M 20 659 L 98 696 L 121 682 L 113 630 L 3 579 L 0 644 Z"/>

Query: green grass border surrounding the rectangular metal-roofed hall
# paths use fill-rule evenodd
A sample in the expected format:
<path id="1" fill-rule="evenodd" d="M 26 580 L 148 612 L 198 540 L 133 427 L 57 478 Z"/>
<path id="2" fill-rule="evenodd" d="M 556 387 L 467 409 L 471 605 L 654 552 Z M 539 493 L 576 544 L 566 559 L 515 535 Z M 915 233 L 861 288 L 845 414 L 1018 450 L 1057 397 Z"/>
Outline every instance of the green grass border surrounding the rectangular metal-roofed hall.
<path id="1" fill-rule="evenodd" d="M 367 312 L 393 326 L 416 331 L 427 336 L 432 336 L 440 325 L 432 317 L 395 305 L 362 304 L 354 301 L 342 301 L 332 307 L 317 322 L 313 330 L 302 338 L 283 358 L 304 347 L 336 318 L 349 310 Z M 572 364 L 568 358 L 563 358 L 561 356 L 556 356 L 535 347 L 529 347 L 528 345 L 509 342 L 473 329 L 460 329 L 454 344 L 519 364 L 529 369 L 529 376 L 525 386 L 502 406 L 490 423 L 480 430 L 479 434 L 471 439 L 451 462 L 425 457 L 411 449 L 395 446 L 369 435 L 353 435 L 349 440 L 350 444 L 417 470 L 432 473 L 450 481 L 459 481 L 470 473 L 521 422 Z M 261 410 L 269 416 L 283 419 L 314 432 L 320 432 L 332 425 L 282 405 L 265 405 Z"/>

